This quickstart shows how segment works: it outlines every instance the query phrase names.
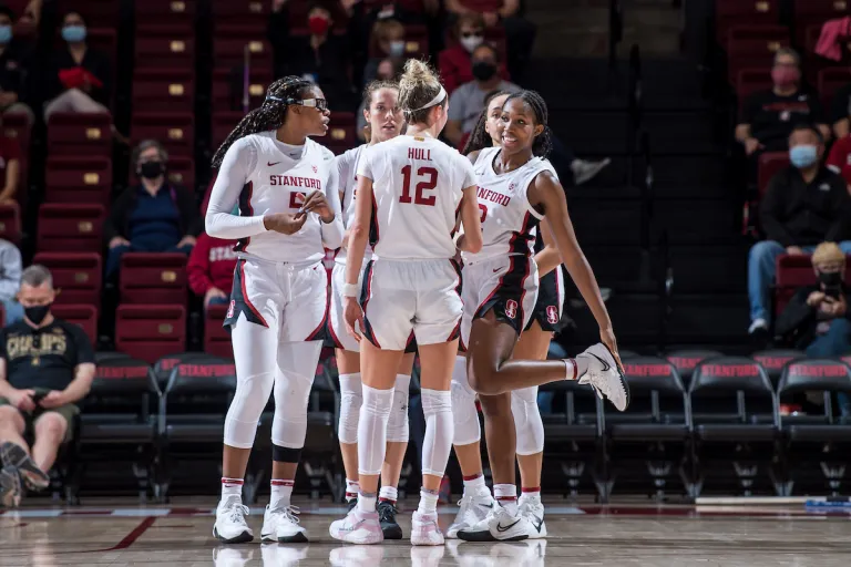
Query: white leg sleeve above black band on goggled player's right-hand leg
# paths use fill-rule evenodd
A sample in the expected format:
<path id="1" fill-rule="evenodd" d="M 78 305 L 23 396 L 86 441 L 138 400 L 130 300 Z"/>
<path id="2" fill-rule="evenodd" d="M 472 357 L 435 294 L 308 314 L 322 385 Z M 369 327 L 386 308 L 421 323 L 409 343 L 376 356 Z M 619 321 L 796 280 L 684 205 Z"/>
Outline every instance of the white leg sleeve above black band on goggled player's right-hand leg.
<path id="1" fill-rule="evenodd" d="M 305 446 L 307 404 L 321 350 L 321 341 L 285 342 L 278 347 L 273 444 L 286 449 Z"/>

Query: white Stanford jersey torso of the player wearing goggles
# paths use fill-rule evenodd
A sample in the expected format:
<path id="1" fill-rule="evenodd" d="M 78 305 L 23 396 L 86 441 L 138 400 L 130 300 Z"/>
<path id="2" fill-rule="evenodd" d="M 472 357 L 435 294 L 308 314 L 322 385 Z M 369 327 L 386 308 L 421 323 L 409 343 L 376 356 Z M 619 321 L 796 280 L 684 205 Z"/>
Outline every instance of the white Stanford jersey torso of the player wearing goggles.
<path id="1" fill-rule="evenodd" d="M 244 144 L 255 146 L 257 163 L 239 194 L 239 215 L 262 216 L 270 213 L 296 214 L 305 197 L 314 190 L 325 194 L 337 190 L 334 153 L 311 140 L 305 142 L 300 158 L 294 159 L 281 148 L 275 132 L 252 134 Z M 242 142 L 242 141 L 240 141 Z M 335 185 L 328 187 L 329 183 Z M 336 196 L 335 196 L 336 197 Z M 301 230 L 283 235 L 268 230 L 250 238 L 240 238 L 235 250 L 273 261 L 319 261 L 325 257 L 321 220 L 309 214 Z"/>

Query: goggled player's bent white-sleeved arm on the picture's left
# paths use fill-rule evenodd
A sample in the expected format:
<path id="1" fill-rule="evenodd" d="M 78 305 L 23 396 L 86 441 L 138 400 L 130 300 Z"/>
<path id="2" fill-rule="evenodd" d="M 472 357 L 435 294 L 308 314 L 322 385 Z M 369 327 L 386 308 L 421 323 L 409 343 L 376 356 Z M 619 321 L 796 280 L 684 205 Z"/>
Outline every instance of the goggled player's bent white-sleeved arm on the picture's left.
<path id="1" fill-rule="evenodd" d="M 239 194 L 248 181 L 248 174 L 257 163 L 254 146 L 238 140 L 232 145 L 222 162 L 216 183 L 209 195 L 209 206 L 204 224 L 209 236 L 216 238 L 249 238 L 266 231 L 263 215 L 234 215 Z"/>

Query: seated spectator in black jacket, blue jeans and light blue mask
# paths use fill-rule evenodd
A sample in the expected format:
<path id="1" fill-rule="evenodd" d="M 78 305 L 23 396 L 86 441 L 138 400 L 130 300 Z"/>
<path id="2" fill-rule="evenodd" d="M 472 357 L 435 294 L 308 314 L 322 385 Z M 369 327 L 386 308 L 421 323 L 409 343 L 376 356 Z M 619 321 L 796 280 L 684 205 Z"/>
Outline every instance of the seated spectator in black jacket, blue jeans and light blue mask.
<path id="1" fill-rule="evenodd" d="M 778 256 L 811 254 L 826 240 L 839 243 L 851 254 L 851 241 L 847 241 L 851 196 L 842 177 L 821 165 L 821 132 L 811 125 L 797 126 L 789 147 L 792 165 L 771 178 L 759 207 L 766 240 L 753 245 L 748 257 L 748 332 L 759 342 L 767 338 L 767 296 Z"/>

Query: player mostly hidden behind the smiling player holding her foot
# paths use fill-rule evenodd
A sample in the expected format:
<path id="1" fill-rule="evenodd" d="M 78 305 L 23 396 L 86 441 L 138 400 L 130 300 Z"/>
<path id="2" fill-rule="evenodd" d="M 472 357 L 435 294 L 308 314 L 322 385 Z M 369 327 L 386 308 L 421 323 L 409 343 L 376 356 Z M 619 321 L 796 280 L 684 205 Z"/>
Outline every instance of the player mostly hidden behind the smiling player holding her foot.
<path id="1" fill-rule="evenodd" d="M 509 93 L 495 91 L 485 99 L 485 110 L 479 117 L 473 133 L 464 147 L 464 154 L 479 152 L 501 144 L 500 121 L 502 105 Z M 545 228 L 545 227 L 542 227 Z M 550 235 L 548 230 L 545 234 Z M 552 240 L 552 238 L 547 238 Z M 539 295 L 534 313 L 514 348 L 515 360 L 545 360 L 553 332 L 562 328 L 564 282 L 560 277 L 561 258 L 552 241 L 543 245 L 539 235 L 535 246 L 535 264 L 539 270 Z M 466 305 L 474 309 L 476 306 Z M 537 386 L 511 392 L 511 410 L 517 439 L 520 466 L 520 514 L 530 529 L 529 538 L 546 537 L 544 507 L 541 503 L 541 468 L 544 451 L 544 424 L 537 406 Z M 481 426 L 475 409 L 475 392 L 466 381 L 466 359 L 460 353 L 452 373 L 452 415 L 455 424 L 454 450 L 464 480 L 464 493 L 459 503 L 455 520 L 447 530 L 447 537 L 458 537 L 458 532 L 483 519 L 493 506 L 491 491 L 484 484 L 482 456 L 479 441 Z"/>

